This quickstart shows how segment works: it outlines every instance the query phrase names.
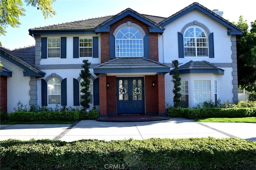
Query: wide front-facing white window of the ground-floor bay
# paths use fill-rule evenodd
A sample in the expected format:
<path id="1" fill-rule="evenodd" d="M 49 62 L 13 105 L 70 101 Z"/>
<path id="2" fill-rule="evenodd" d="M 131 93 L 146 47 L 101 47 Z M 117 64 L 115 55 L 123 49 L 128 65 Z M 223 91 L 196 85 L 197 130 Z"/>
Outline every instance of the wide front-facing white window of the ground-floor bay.
<path id="1" fill-rule="evenodd" d="M 194 106 L 202 106 L 204 102 L 211 101 L 211 99 L 211 80 L 194 80 Z"/>

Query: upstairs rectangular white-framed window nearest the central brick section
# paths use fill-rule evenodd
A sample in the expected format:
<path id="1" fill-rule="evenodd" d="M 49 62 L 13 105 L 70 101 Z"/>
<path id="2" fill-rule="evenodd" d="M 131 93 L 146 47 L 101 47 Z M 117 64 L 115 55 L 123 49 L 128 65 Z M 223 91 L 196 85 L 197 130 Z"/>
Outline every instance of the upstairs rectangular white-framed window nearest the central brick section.
<path id="1" fill-rule="evenodd" d="M 92 38 L 79 38 L 79 57 L 92 57 Z"/>

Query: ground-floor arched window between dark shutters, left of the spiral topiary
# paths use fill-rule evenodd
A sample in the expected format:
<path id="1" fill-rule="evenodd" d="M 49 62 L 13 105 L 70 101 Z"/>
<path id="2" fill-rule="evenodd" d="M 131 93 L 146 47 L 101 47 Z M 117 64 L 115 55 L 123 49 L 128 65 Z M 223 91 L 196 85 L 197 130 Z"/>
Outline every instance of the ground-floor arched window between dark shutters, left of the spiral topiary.
<path id="1" fill-rule="evenodd" d="M 48 86 L 48 104 L 60 104 L 60 80 L 52 77 L 47 82 Z"/>

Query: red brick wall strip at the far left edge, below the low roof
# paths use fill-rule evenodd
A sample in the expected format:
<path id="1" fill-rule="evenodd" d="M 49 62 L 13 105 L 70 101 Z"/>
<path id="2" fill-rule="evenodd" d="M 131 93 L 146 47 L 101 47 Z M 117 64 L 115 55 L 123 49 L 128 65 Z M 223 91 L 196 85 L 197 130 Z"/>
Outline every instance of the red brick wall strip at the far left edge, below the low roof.
<path id="1" fill-rule="evenodd" d="M 7 76 L 0 77 L 0 108 L 3 113 L 7 112 Z"/>

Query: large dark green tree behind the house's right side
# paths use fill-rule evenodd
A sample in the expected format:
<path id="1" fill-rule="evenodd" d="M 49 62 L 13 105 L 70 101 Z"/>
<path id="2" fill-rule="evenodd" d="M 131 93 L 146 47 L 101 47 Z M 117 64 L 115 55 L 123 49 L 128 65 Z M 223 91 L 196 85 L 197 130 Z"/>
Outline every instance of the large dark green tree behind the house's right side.
<path id="1" fill-rule="evenodd" d="M 256 20 L 250 24 L 249 31 L 243 16 L 236 23 L 243 31 L 237 37 L 238 84 L 240 88 L 256 92 Z"/>

